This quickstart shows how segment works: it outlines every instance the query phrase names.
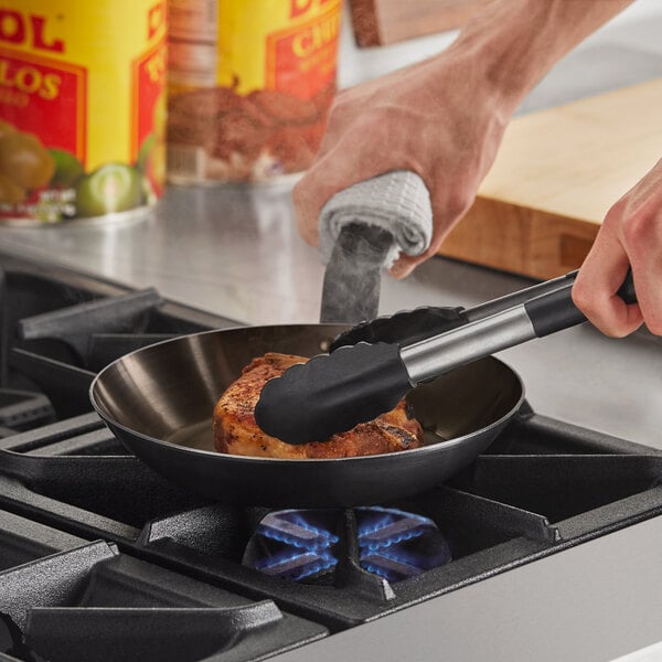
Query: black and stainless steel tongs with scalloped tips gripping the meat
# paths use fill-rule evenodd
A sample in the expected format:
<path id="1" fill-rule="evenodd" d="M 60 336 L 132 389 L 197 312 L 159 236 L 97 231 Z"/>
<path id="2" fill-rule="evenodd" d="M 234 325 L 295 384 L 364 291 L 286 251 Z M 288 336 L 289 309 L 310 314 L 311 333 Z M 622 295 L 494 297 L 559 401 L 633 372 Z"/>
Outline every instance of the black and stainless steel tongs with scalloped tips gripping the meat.
<path id="1" fill-rule="evenodd" d="M 576 275 L 468 310 L 414 310 L 354 327 L 329 354 L 267 382 L 255 408 L 257 424 L 288 444 L 325 440 L 394 408 L 423 382 L 585 322 L 572 299 Z M 631 271 L 618 293 L 626 303 L 637 301 Z M 428 314 L 439 310 L 446 314 Z"/>

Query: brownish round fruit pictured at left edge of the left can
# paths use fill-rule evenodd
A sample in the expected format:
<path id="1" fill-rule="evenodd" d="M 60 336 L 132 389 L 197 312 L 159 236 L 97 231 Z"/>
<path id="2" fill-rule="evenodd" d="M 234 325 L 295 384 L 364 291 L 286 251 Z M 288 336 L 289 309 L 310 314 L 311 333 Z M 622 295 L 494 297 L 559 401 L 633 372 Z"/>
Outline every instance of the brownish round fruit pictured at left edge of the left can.
<path id="1" fill-rule="evenodd" d="M 41 189 L 55 172 L 55 161 L 36 136 L 4 134 L 0 137 L 0 174 L 21 189 Z"/>

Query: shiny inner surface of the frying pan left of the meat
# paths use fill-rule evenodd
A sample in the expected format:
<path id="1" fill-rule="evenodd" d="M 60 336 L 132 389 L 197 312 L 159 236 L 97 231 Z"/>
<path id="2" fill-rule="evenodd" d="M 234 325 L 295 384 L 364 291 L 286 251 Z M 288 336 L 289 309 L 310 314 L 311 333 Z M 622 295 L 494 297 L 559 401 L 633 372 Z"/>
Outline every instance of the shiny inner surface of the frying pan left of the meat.
<path id="1" fill-rule="evenodd" d="M 224 329 L 145 348 L 107 366 L 92 386 L 99 413 L 138 435 L 214 450 L 214 405 L 250 361 L 266 352 L 313 356 L 344 325 Z"/>

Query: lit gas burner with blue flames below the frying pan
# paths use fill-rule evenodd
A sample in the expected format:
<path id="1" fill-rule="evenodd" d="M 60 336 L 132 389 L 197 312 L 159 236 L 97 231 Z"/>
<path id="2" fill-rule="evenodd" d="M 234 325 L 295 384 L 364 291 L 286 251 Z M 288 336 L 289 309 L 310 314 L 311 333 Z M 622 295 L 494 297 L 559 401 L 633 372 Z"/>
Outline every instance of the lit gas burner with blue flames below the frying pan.
<path id="1" fill-rule="evenodd" d="M 397 509 L 357 508 L 355 526 L 342 510 L 284 510 L 255 528 L 244 565 L 293 581 L 331 583 L 343 549 L 357 549 L 359 565 L 388 581 L 401 581 L 451 559 L 437 525 Z M 357 545 L 345 544 L 354 536 Z"/>

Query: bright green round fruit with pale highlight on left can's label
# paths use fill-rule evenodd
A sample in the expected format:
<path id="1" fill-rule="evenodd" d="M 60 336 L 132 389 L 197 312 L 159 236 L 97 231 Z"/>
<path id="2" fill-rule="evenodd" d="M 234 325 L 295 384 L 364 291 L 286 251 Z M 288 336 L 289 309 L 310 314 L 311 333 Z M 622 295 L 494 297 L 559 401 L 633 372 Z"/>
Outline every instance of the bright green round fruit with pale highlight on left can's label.
<path id="1" fill-rule="evenodd" d="M 140 173 L 124 163 L 106 163 L 76 185 L 76 215 L 100 216 L 143 203 Z"/>

